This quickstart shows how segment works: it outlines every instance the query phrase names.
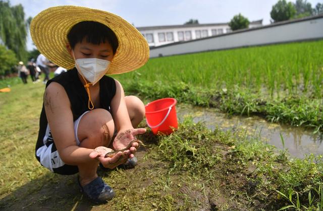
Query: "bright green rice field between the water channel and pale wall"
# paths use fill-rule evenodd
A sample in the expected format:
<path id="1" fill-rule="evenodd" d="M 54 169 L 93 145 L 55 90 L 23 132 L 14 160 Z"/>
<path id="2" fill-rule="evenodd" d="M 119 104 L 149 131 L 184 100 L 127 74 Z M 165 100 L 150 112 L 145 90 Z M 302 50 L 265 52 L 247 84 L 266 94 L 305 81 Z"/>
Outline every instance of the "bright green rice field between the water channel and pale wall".
<path id="1" fill-rule="evenodd" d="M 323 128 L 323 41 L 287 43 L 150 59 L 116 75 L 129 93 Z"/>

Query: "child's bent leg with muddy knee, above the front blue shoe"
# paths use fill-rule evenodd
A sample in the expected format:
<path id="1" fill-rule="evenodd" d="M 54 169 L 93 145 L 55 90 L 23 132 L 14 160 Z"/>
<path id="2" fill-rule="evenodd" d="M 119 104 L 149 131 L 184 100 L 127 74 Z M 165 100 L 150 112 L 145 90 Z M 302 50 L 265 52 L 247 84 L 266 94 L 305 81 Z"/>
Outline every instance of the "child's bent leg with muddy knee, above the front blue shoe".
<path id="1" fill-rule="evenodd" d="M 115 125 L 111 114 L 104 109 L 94 109 L 86 113 L 80 120 L 77 129 L 77 138 L 80 147 L 94 149 L 98 146 L 110 144 Z M 80 183 L 88 184 L 97 177 L 98 161 L 93 160 L 78 166 Z"/>

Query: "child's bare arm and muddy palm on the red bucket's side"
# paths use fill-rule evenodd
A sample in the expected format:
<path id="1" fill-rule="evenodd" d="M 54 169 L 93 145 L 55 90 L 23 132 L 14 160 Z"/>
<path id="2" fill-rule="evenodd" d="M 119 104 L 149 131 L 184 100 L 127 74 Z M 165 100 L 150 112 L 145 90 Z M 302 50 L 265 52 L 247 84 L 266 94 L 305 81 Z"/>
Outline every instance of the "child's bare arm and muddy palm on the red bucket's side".
<path id="1" fill-rule="evenodd" d="M 119 81 L 116 81 L 116 94 L 111 101 L 112 116 L 116 125 L 118 134 L 113 142 L 113 146 L 116 150 L 122 149 L 127 146 L 133 139 L 135 135 L 143 134 L 146 132 L 144 128 L 134 129 L 131 125 L 130 117 L 128 114 L 125 94 L 122 85 Z M 139 144 L 134 142 L 132 144 L 134 147 L 138 147 Z"/>

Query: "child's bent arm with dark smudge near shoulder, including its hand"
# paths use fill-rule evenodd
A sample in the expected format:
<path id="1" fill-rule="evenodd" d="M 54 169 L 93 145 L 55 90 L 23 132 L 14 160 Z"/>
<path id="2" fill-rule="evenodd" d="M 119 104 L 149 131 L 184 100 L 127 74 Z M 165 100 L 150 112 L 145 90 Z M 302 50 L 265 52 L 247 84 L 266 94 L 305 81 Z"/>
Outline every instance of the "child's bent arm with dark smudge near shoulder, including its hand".
<path id="1" fill-rule="evenodd" d="M 44 108 L 53 140 L 64 163 L 78 166 L 84 163 L 96 162 L 94 160 L 96 159 L 104 165 L 115 164 L 120 158 L 122 153 L 119 156 L 112 157 L 112 160 L 110 160 L 110 157 L 103 159 L 102 157 L 104 157 L 106 150 L 109 150 L 109 148 L 93 150 L 77 146 L 70 100 L 65 89 L 59 83 L 52 82 L 46 88 Z M 91 152 L 93 153 L 91 154 Z"/>

